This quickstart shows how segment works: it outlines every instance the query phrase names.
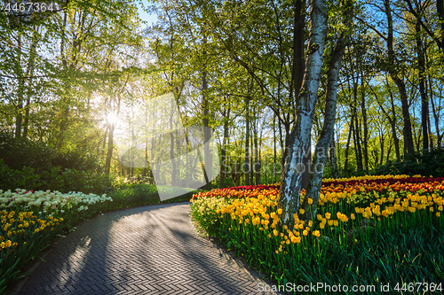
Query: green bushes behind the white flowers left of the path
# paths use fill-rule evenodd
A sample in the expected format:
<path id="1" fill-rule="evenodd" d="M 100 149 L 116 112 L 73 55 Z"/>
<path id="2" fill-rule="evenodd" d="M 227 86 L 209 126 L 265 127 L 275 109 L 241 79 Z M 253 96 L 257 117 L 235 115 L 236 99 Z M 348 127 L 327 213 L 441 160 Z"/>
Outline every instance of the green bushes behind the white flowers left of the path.
<path id="1" fill-rule="evenodd" d="M 88 151 L 59 152 L 45 144 L 0 133 L 0 189 L 102 193 L 110 185 Z"/>

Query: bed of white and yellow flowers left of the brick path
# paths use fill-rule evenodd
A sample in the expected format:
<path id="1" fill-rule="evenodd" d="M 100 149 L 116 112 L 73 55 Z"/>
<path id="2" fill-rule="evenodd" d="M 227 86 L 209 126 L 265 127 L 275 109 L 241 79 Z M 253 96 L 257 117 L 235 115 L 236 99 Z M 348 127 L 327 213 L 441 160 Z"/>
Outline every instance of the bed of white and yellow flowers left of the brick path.
<path id="1" fill-rule="evenodd" d="M 106 195 L 81 192 L 0 190 L 0 293 L 22 276 L 52 238 L 107 209 Z"/>

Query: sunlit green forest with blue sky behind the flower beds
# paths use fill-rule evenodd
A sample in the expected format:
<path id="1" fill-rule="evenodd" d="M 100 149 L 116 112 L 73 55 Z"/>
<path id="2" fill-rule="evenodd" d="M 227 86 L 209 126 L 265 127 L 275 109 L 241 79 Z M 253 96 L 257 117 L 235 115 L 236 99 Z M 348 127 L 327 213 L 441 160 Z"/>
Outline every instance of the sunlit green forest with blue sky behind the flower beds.
<path id="1" fill-rule="evenodd" d="M 164 175 L 159 184 L 176 187 L 202 181 L 188 166 L 163 167 L 158 151 L 191 147 L 179 144 L 177 133 L 156 133 L 159 113 L 131 115 L 167 93 L 185 128 L 207 127 L 216 138 L 220 171 L 212 187 L 280 182 L 309 54 L 310 3 L 1 4 L 0 189 L 102 192 L 124 178 L 153 182 L 156 173 Z M 158 21 L 144 24 L 138 5 Z M 321 134 L 329 58 L 345 26 L 345 7 L 352 7 L 323 176 L 442 176 L 442 1 L 327 5 L 307 153 Z M 118 121 L 127 128 L 117 132 Z M 147 165 L 125 166 L 116 142 L 143 136 L 134 134 L 140 124 L 151 130 L 139 155 Z M 210 132 L 204 133 L 208 140 Z"/>

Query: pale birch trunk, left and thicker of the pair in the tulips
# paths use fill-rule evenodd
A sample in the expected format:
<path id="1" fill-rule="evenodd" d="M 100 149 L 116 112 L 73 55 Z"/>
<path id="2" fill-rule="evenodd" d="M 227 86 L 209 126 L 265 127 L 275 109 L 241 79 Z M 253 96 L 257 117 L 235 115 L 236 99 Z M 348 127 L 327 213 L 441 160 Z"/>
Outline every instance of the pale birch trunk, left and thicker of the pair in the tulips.
<path id="1" fill-rule="evenodd" d="M 293 216 L 298 213 L 302 175 L 304 174 L 304 152 L 310 149 L 308 143 L 313 126 L 314 108 L 318 100 L 321 79 L 322 55 L 327 32 L 328 9 L 325 0 L 311 1 L 311 21 L 308 50 L 305 63 L 303 89 L 297 103 L 297 119 L 289 136 L 289 152 L 281 176 L 279 207 L 282 221 L 292 225 Z M 301 167 L 302 166 L 302 167 Z"/>

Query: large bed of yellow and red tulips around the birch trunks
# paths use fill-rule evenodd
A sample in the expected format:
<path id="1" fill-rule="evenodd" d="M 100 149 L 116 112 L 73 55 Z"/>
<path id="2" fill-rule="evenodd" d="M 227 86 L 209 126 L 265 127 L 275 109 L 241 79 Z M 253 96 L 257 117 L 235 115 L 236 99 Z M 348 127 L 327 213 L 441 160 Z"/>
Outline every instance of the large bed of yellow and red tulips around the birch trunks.
<path id="1" fill-rule="evenodd" d="M 387 284 L 391 293 L 444 291 L 444 178 L 327 179 L 313 221 L 295 214 L 292 229 L 282 224 L 278 193 L 279 184 L 202 192 L 191 215 L 197 229 L 242 254 L 281 291 L 304 293 L 295 286 L 310 283 L 375 286 L 360 291 L 369 294 Z"/>

